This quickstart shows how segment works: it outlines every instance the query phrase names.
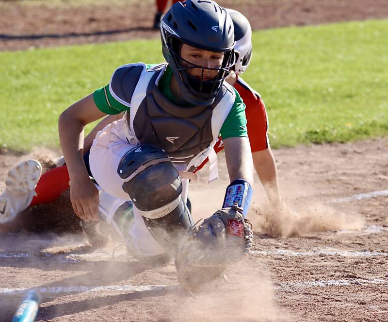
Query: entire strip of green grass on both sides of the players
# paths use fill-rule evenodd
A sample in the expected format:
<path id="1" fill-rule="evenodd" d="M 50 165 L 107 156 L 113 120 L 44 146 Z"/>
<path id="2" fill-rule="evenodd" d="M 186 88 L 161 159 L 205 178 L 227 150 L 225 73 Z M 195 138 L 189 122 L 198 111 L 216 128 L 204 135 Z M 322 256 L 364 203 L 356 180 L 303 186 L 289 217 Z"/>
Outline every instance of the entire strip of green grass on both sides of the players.
<path id="1" fill-rule="evenodd" d="M 244 79 L 262 95 L 273 147 L 388 133 L 388 20 L 253 34 Z M 57 148 L 61 111 L 123 64 L 162 61 L 159 40 L 0 52 L 0 147 Z"/>

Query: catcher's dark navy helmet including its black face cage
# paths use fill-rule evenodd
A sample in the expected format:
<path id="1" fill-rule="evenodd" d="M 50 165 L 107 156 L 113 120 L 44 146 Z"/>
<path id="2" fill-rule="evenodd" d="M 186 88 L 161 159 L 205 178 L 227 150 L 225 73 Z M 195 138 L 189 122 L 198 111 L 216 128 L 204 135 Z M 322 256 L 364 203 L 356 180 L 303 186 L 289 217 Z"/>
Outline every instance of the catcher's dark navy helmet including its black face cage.
<path id="1" fill-rule="evenodd" d="M 163 56 L 173 70 L 182 97 L 195 105 L 211 104 L 234 64 L 234 28 L 229 14 L 211 0 L 177 2 L 162 18 L 161 35 Z M 182 59 L 183 44 L 224 52 L 224 60 L 219 68 L 195 65 Z M 218 73 L 210 80 L 199 80 L 187 72 L 191 68 Z"/>

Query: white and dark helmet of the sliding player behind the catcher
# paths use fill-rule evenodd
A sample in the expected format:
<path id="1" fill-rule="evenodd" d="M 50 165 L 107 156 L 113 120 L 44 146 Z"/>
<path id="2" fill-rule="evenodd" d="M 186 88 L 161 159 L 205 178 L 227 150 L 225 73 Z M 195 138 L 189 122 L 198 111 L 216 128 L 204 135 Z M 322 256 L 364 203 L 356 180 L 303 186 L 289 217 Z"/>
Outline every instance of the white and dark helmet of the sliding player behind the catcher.
<path id="1" fill-rule="evenodd" d="M 242 74 L 249 66 L 252 58 L 252 29 L 248 19 L 240 12 L 226 9 L 234 26 L 234 52 L 236 65 L 233 67 L 236 74 Z"/>

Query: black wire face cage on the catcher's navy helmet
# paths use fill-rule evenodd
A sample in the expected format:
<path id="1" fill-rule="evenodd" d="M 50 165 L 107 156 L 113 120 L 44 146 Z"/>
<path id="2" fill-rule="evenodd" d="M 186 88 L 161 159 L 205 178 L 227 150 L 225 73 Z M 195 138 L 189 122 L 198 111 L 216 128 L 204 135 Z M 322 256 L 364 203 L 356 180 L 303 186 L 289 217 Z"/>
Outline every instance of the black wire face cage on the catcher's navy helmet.
<path id="1" fill-rule="evenodd" d="M 220 67 L 210 68 L 189 62 L 182 58 L 180 50 L 185 42 L 176 38 L 173 35 L 167 36 L 167 49 L 170 51 L 171 58 L 177 66 L 177 72 L 182 83 L 187 86 L 188 90 L 195 96 L 203 100 L 214 99 L 227 76 L 229 76 L 231 69 L 235 64 L 234 50 L 220 51 L 224 53 L 224 59 Z M 187 44 L 192 46 L 191 44 Z M 195 47 L 195 46 L 193 46 Z M 198 48 L 198 47 L 195 47 Z M 190 74 L 190 69 L 200 69 L 201 78 L 194 77 Z M 205 70 L 215 70 L 217 75 L 209 80 L 203 78 Z"/>

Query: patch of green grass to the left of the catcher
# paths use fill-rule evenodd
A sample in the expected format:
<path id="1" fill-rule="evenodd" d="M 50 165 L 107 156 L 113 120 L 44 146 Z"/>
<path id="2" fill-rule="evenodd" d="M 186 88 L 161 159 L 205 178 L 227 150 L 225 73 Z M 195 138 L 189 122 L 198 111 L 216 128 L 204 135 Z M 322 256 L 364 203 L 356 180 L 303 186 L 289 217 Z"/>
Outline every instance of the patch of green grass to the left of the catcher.
<path id="1" fill-rule="evenodd" d="M 57 123 L 61 112 L 108 84 L 118 66 L 141 60 L 162 61 L 159 43 L 137 40 L 0 52 L 0 146 L 16 151 L 37 145 L 59 147 Z"/>

